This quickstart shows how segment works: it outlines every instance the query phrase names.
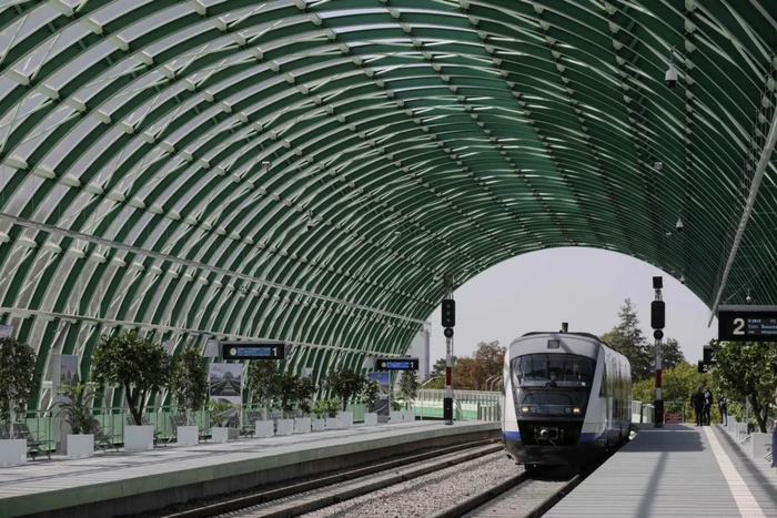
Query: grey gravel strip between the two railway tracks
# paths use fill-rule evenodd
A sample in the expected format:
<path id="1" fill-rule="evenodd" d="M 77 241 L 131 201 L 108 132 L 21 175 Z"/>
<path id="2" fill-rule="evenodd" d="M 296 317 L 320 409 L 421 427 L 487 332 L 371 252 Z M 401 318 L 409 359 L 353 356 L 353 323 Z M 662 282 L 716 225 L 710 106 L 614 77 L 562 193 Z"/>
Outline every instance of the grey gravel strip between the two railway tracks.
<path id="1" fill-rule="evenodd" d="M 427 518 L 517 475 L 522 469 L 500 451 L 304 516 Z"/>

